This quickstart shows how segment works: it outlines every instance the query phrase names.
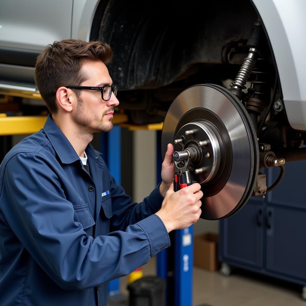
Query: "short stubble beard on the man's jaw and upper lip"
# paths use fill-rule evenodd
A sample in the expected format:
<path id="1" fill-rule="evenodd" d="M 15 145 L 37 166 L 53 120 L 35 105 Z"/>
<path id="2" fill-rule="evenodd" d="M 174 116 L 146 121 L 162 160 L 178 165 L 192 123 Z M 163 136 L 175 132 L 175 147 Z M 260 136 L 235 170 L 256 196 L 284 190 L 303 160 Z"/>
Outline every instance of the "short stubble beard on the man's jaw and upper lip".
<path id="1" fill-rule="evenodd" d="M 111 129 L 113 128 L 113 126 L 114 126 L 111 122 L 113 120 L 113 118 L 109 119 L 110 124 L 103 122 L 103 118 L 104 118 L 104 115 L 108 114 L 111 111 L 113 111 L 112 108 L 103 112 L 100 122 L 96 126 L 92 127 L 91 126 L 91 119 L 88 118 L 85 114 L 83 100 L 81 98 L 78 98 L 77 99 L 76 113 L 75 113 L 73 119 L 74 119 L 74 122 L 77 125 L 79 125 L 80 127 L 82 127 L 83 129 L 85 129 L 86 132 L 89 132 L 89 133 L 107 133 L 107 132 L 110 132 Z M 98 114 L 95 114 L 94 119 L 95 119 L 95 121 L 99 120 Z"/>

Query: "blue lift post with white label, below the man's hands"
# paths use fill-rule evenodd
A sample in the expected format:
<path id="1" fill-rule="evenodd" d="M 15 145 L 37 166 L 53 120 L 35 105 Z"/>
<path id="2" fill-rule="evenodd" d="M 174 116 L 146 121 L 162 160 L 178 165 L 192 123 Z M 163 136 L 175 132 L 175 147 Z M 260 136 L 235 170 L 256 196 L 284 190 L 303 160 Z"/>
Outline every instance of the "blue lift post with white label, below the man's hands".
<path id="1" fill-rule="evenodd" d="M 157 184 L 161 182 L 162 169 L 161 131 L 157 131 Z M 157 275 L 167 281 L 168 260 L 174 260 L 174 288 L 173 297 L 167 297 L 169 304 L 174 306 L 192 306 L 193 282 L 193 226 L 174 233 L 174 259 L 169 258 L 166 249 L 157 254 Z M 169 288 L 168 288 L 169 289 Z M 169 291 L 167 289 L 167 291 Z"/>

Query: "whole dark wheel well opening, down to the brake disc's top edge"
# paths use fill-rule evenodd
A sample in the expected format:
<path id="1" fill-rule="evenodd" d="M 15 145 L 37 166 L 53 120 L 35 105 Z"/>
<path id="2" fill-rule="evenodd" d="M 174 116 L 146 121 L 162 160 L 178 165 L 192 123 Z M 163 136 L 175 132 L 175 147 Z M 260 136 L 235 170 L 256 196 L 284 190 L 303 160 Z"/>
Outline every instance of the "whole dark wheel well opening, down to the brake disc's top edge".
<path id="1" fill-rule="evenodd" d="M 162 121 L 189 86 L 234 79 L 257 18 L 252 2 L 245 0 L 235 5 L 108 0 L 98 6 L 91 38 L 112 47 L 108 69 L 119 85 L 120 107 L 143 124 Z"/>

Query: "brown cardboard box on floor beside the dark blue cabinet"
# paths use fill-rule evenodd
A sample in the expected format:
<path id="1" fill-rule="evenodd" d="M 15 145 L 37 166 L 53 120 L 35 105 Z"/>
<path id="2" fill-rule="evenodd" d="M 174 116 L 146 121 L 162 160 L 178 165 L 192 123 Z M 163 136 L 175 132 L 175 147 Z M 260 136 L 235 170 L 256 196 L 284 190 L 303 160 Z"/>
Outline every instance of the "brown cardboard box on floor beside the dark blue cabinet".
<path id="1" fill-rule="evenodd" d="M 205 233 L 194 237 L 194 266 L 216 271 L 218 264 L 218 235 Z"/>

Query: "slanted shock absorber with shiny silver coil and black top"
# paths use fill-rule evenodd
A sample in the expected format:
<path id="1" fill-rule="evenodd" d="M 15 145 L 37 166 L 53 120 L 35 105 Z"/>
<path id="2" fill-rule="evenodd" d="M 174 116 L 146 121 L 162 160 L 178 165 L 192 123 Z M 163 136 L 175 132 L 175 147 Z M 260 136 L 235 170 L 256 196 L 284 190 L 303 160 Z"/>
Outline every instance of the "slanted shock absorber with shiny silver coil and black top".
<path id="1" fill-rule="evenodd" d="M 259 21 L 254 21 L 250 37 L 247 42 L 247 47 L 249 47 L 248 55 L 244 59 L 244 62 L 237 74 L 236 79 L 230 84 L 230 91 L 237 96 L 238 99 L 242 99 L 242 89 L 245 89 L 245 84 L 248 81 L 252 69 L 258 58 L 260 43 L 263 37 L 263 27 Z"/>

